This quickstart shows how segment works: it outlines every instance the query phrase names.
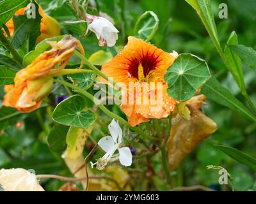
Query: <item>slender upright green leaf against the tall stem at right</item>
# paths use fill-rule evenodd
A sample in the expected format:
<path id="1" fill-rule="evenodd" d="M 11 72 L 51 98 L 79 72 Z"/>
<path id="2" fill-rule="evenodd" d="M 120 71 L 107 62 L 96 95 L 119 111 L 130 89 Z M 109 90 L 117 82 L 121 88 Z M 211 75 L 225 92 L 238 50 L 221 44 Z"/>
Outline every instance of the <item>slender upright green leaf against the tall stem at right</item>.
<path id="1" fill-rule="evenodd" d="M 228 38 L 227 45 L 225 46 L 225 59 L 229 71 L 239 85 L 241 91 L 245 91 L 244 75 L 241 64 L 241 59 L 234 53 L 230 46 L 237 45 L 238 39 L 237 34 L 233 31 Z"/>

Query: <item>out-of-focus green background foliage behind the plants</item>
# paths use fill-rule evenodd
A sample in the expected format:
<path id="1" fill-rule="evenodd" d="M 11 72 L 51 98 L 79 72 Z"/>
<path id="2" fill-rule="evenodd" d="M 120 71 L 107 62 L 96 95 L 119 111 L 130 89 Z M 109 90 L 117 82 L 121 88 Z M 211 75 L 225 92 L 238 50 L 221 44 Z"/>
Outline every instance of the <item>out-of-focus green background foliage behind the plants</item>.
<path id="1" fill-rule="evenodd" d="M 65 6 L 58 8 L 58 1 L 40 0 L 39 3 L 52 17 L 58 21 L 72 20 L 72 13 Z M 228 19 L 218 18 L 219 4 L 227 3 Z M 50 5 L 49 5 L 50 4 Z M 116 45 L 119 48 L 127 43 L 127 36 L 133 35 L 134 24 L 138 17 L 147 10 L 154 11 L 159 17 L 159 29 L 151 43 L 166 52 L 172 50 L 180 53 L 192 53 L 202 57 L 209 64 L 212 75 L 215 75 L 221 84 L 227 87 L 238 99 L 246 104 L 239 92 L 236 82 L 228 73 L 214 48 L 205 28 L 188 3 L 184 0 L 97 0 L 100 11 L 108 13 L 115 21 L 120 31 Z M 49 9 L 54 8 L 55 10 Z M 239 43 L 256 48 L 256 1 L 255 0 L 214 0 L 212 9 L 216 19 L 221 46 L 225 46 L 230 33 L 236 31 Z M 92 12 L 93 13 L 93 12 Z M 63 33 L 68 33 L 63 27 Z M 99 50 L 97 39 L 93 34 L 82 40 L 86 55 Z M 106 50 L 107 48 L 101 48 Z M 246 89 L 256 103 L 256 76 L 255 72 L 243 64 L 246 80 Z M 0 88 L 3 96 L 3 87 Z M 3 98 L 3 97 L 0 97 Z M 36 173 L 51 173 L 70 175 L 60 155 L 52 153 L 44 140 L 42 124 L 38 122 L 38 110 L 30 113 L 24 119 L 22 128 L 10 126 L 4 135 L 0 136 L 0 168 L 22 167 L 35 169 Z M 182 186 L 201 184 L 220 190 L 218 186 L 218 171 L 207 170 L 208 164 L 220 165 L 228 170 L 235 182 L 237 191 L 253 190 L 256 187 L 255 173 L 246 166 L 237 163 L 213 144 L 227 145 L 239 149 L 256 157 L 256 124 L 232 110 L 207 101 L 204 112 L 218 124 L 218 131 L 204 140 L 182 162 Z M 23 120 L 23 118 L 20 118 Z M 47 121 L 46 121 L 47 122 Z M 157 168 L 157 167 L 156 167 Z M 175 173 L 175 172 L 173 172 Z M 47 190 L 58 190 L 63 182 L 49 180 L 44 187 Z M 225 187 L 222 187 L 225 190 Z M 256 188 L 255 188 L 256 190 Z"/>

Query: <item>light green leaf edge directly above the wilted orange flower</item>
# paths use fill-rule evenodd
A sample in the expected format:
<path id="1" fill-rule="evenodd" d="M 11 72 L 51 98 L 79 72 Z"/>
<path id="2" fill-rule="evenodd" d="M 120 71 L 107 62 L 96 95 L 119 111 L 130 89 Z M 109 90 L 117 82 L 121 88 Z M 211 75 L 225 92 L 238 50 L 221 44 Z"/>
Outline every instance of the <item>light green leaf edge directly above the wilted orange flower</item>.
<path id="1" fill-rule="evenodd" d="M 31 64 L 36 57 L 38 57 L 40 54 L 45 52 L 46 50 L 49 50 L 51 48 L 51 45 L 47 43 L 47 41 L 60 41 L 62 38 L 64 38 L 66 35 L 63 36 L 55 36 L 53 38 L 47 38 L 40 43 L 38 43 L 35 47 L 35 50 L 29 52 L 28 54 L 25 55 L 23 59 L 23 66 L 26 67 L 29 64 Z"/>

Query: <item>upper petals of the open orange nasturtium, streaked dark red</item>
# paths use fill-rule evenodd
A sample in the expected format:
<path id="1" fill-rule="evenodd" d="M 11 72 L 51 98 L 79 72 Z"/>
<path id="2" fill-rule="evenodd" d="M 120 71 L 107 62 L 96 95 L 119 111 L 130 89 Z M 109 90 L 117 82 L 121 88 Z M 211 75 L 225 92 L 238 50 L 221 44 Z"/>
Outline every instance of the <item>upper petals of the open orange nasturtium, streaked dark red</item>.
<path id="1" fill-rule="evenodd" d="M 163 50 L 130 36 L 128 43 L 101 71 L 115 82 L 135 82 L 138 80 L 138 66 L 142 64 L 147 82 L 162 81 L 166 69 L 175 57 Z"/>

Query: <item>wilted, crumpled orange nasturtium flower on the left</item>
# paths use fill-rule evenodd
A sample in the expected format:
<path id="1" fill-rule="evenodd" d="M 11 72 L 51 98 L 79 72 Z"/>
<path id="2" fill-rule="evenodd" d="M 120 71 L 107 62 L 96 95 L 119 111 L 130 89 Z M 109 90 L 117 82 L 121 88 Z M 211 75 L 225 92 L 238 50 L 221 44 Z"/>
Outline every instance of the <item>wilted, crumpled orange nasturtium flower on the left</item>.
<path id="1" fill-rule="evenodd" d="M 49 41 L 52 49 L 40 54 L 24 69 L 17 72 L 13 85 L 5 87 L 3 105 L 12 106 L 20 112 L 32 112 L 40 106 L 42 100 L 53 87 L 52 75 L 65 68 L 76 47 L 84 55 L 80 41 L 65 36 L 61 41 Z"/>

